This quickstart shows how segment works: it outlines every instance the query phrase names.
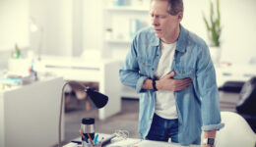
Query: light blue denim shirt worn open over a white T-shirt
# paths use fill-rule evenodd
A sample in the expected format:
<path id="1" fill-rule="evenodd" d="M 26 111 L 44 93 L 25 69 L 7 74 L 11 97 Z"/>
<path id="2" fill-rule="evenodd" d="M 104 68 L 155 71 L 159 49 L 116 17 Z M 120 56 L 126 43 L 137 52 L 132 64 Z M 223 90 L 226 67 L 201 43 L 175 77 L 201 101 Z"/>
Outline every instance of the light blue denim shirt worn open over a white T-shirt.
<path id="1" fill-rule="evenodd" d="M 134 38 L 122 68 L 121 82 L 140 93 L 139 133 L 145 139 L 155 113 L 156 92 L 142 89 L 144 80 L 154 78 L 160 61 L 160 38 L 153 27 L 142 29 Z M 202 130 L 219 130 L 221 123 L 216 73 L 205 41 L 180 25 L 171 65 L 173 78 L 189 77 L 193 84 L 175 91 L 178 114 L 178 141 L 200 144 Z"/>

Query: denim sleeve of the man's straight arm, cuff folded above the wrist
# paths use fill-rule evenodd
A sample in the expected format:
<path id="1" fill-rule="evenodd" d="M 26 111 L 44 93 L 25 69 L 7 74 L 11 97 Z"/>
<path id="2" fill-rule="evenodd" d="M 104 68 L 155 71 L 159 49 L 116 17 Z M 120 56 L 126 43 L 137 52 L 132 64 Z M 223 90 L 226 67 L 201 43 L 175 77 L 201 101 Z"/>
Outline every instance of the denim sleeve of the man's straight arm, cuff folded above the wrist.
<path id="1" fill-rule="evenodd" d="M 219 130 L 224 127 L 221 120 L 219 91 L 214 64 L 205 44 L 198 54 L 196 91 L 201 99 L 202 130 Z"/>

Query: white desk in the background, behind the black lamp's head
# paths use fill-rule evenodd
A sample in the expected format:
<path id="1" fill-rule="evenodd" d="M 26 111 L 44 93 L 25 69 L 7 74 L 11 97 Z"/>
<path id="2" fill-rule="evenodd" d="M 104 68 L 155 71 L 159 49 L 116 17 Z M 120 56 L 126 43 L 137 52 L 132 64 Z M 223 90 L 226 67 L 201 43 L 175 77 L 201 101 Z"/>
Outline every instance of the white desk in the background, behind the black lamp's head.
<path id="1" fill-rule="evenodd" d="M 27 65 L 27 66 L 25 66 Z M 27 70 L 29 60 L 9 60 L 9 71 Z M 23 67 L 23 68 L 21 68 Z M 98 82 L 99 92 L 108 96 L 108 103 L 98 110 L 99 120 L 104 120 L 121 111 L 120 62 L 116 60 L 86 60 L 84 58 L 42 56 L 34 63 L 39 73 L 54 73 L 65 80 Z"/>

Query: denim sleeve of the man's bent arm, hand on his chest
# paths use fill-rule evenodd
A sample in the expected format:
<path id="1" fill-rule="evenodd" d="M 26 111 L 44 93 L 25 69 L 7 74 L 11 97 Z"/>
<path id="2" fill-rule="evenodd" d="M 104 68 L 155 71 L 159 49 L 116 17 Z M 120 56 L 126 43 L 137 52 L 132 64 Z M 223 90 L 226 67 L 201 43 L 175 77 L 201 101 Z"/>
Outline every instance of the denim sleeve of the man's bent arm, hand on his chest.
<path id="1" fill-rule="evenodd" d="M 122 68 L 119 70 L 120 81 L 129 87 L 132 87 L 139 92 L 146 92 L 147 90 L 142 89 L 142 85 L 148 77 L 146 75 L 140 74 L 140 69 L 137 60 L 137 38 L 133 40 L 131 49 L 128 52 L 126 59 L 122 65 Z"/>

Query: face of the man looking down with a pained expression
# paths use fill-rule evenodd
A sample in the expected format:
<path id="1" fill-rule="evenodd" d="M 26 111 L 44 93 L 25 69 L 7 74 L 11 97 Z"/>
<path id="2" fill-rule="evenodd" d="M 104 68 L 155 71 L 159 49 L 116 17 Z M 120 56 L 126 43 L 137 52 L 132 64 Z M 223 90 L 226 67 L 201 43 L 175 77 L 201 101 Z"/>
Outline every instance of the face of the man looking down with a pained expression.
<path id="1" fill-rule="evenodd" d="M 168 11 L 169 4 L 167 1 L 153 0 L 151 4 L 151 21 L 157 37 L 167 39 L 175 34 L 178 30 L 179 23 L 182 19 L 182 13 L 171 16 Z"/>

